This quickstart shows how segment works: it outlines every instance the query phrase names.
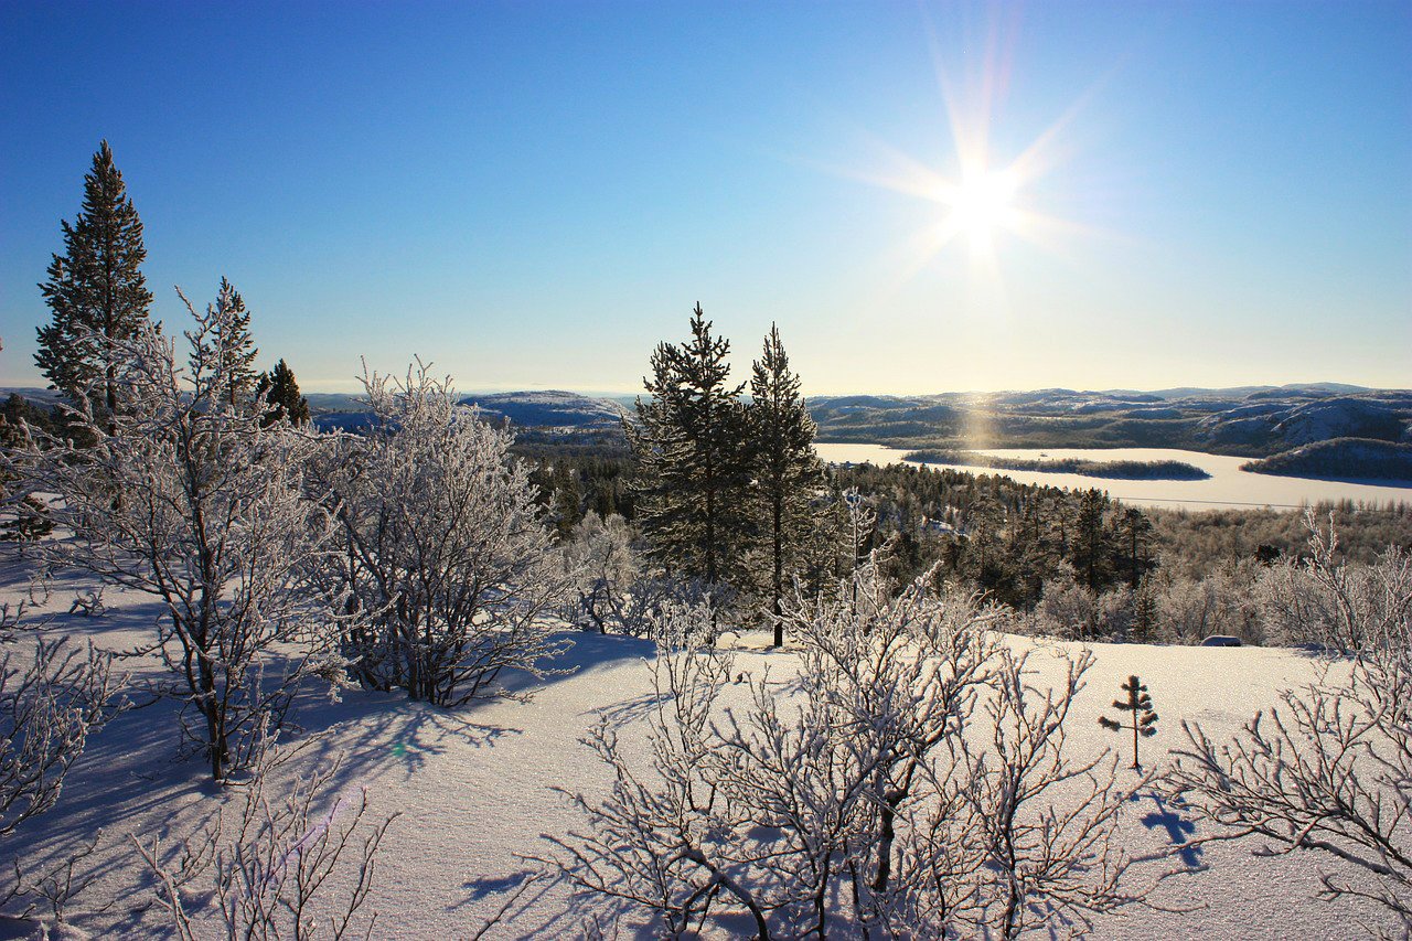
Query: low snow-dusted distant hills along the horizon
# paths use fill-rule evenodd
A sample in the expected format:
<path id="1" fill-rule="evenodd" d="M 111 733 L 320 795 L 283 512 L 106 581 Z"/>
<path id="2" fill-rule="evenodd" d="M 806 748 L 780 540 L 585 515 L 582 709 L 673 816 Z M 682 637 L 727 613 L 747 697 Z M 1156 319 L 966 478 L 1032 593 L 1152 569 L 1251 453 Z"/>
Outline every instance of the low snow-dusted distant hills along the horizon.
<path id="1" fill-rule="evenodd" d="M 56 393 L 0 389 L 38 404 Z M 306 396 L 321 428 L 369 421 L 356 394 Z M 621 437 L 631 398 L 563 390 L 466 394 L 493 420 L 538 437 L 569 432 Z M 1412 390 L 1346 383 L 1236 389 L 1036 389 L 928 396 L 812 396 L 819 441 L 884 444 L 907 451 L 980 448 L 1183 448 L 1268 458 L 1320 441 L 1356 438 L 1412 444 Z"/>

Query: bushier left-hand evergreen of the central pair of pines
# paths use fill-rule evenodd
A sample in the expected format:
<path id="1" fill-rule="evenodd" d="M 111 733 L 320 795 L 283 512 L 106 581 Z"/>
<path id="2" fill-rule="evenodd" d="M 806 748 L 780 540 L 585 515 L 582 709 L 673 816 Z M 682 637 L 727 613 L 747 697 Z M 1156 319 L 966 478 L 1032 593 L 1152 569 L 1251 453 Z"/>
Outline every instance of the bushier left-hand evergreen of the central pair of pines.
<path id="1" fill-rule="evenodd" d="M 730 343 L 712 336 L 700 304 L 692 339 L 659 343 L 651 394 L 626 425 L 637 461 L 638 523 L 648 555 L 674 575 L 740 586 L 750 485 L 744 384 L 729 386 Z"/>

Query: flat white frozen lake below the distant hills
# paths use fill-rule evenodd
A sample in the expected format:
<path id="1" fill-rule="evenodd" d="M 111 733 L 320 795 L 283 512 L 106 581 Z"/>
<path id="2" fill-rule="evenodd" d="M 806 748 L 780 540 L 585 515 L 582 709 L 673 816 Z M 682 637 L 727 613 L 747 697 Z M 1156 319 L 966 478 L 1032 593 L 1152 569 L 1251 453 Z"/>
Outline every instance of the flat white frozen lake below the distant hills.
<path id="1" fill-rule="evenodd" d="M 899 463 L 905 451 L 868 444 L 815 444 L 819 456 L 830 463 Z M 1221 506 L 1299 507 L 1322 500 L 1367 500 L 1375 503 L 1412 503 L 1412 486 L 1385 486 L 1347 480 L 1316 480 L 1310 478 L 1281 478 L 1250 473 L 1240 465 L 1248 458 L 1178 451 L 1173 448 L 990 448 L 981 454 L 1025 459 L 1086 458 L 1090 461 L 1185 461 L 1202 468 L 1206 480 L 1114 480 L 1089 478 L 1079 473 L 1046 473 L 1043 470 L 1001 470 L 955 463 L 931 463 L 935 468 L 956 468 L 973 473 L 995 473 L 1019 480 L 1055 487 L 1107 490 L 1124 503 L 1151 506 L 1183 506 L 1193 510 Z M 921 462 L 908 462 L 921 463 Z"/>

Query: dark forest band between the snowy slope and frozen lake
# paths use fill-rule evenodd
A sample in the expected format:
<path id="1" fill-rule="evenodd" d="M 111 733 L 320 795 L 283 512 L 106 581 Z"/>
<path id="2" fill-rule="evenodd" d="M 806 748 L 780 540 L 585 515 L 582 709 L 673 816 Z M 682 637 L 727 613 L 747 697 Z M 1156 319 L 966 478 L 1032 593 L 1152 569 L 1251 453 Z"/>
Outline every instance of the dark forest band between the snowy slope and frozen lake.
<path id="1" fill-rule="evenodd" d="M 541 500 L 561 534 L 613 531 L 642 551 L 630 458 L 542 458 Z M 850 545 L 844 495 L 875 520 Z M 1247 643 L 1298 640 L 1255 606 L 1262 574 L 1308 558 L 1302 510 L 1131 507 L 1101 490 L 1067 490 L 950 468 L 830 466 L 809 497 L 815 531 L 795 572 L 816 586 L 878 552 L 894 585 L 933 568 L 1031 617 L 1029 629 L 1086 639 L 1193 643 L 1230 633 Z M 1337 558 L 1365 565 L 1389 545 L 1412 547 L 1412 507 L 1340 502 L 1312 507 L 1337 521 Z M 585 524 L 586 517 L 593 517 Z"/>

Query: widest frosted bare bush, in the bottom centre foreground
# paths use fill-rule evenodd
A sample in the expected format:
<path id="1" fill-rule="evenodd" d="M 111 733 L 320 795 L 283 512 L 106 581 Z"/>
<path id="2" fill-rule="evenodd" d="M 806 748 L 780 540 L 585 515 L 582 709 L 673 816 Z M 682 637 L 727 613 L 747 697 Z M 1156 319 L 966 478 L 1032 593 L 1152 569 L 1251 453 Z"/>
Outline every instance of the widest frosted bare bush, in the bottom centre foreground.
<path id="1" fill-rule="evenodd" d="M 614 784 L 602 801 L 565 791 L 589 827 L 546 836 L 545 862 L 671 937 L 1011 938 L 1130 900 L 1115 760 L 1065 753 L 1089 657 L 1041 690 L 990 630 L 997 610 L 926 576 L 888 598 L 860 572 L 796 599 L 801 667 L 782 684 L 665 644 L 651 766 L 600 723 L 587 745 Z M 659 633 L 709 617 L 676 608 Z"/>

